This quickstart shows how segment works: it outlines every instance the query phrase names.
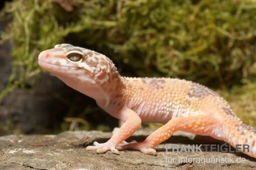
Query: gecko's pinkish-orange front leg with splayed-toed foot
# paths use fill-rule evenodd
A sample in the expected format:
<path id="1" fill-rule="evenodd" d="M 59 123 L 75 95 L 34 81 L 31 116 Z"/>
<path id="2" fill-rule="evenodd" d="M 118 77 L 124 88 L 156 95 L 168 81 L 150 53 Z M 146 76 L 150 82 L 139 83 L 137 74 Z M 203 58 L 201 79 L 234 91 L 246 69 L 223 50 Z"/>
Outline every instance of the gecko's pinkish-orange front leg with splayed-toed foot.
<path id="1" fill-rule="evenodd" d="M 117 118 L 125 121 L 124 124 L 112 135 L 112 137 L 105 143 L 94 142 L 94 146 L 87 146 L 86 150 L 96 150 L 97 153 L 104 153 L 111 150 L 118 154 L 116 146 L 123 140 L 130 137 L 137 129 L 141 127 L 141 117 L 135 111 L 129 108 L 123 108 L 117 113 Z"/>

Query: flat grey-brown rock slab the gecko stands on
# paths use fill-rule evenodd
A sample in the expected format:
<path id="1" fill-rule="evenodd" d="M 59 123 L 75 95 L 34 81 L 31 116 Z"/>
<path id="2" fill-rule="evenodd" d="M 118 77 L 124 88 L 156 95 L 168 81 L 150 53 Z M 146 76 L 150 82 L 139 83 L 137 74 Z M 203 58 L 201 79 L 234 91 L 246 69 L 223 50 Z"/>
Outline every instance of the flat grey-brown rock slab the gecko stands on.
<path id="1" fill-rule="evenodd" d="M 139 130 L 127 141 L 143 140 L 152 130 Z M 93 141 L 104 142 L 111 132 L 66 131 L 58 135 L 7 135 L 0 137 L 0 169 L 255 169 L 256 162 L 242 153 L 166 152 L 165 145 L 216 143 L 207 136 L 180 132 L 156 147 L 157 155 L 124 150 L 119 155 L 107 151 L 86 151 Z M 181 145 L 179 145 L 181 146 Z M 179 157 L 190 158 L 179 161 Z M 200 162 L 198 161 L 201 159 Z M 214 160 L 215 158 L 215 160 Z M 221 161 L 222 158 L 222 161 Z M 224 161 L 223 159 L 226 160 Z M 208 162 L 210 161 L 211 162 Z M 244 162 L 239 162 L 242 160 Z M 203 161 L 206 161 L 205 163 Z"/>

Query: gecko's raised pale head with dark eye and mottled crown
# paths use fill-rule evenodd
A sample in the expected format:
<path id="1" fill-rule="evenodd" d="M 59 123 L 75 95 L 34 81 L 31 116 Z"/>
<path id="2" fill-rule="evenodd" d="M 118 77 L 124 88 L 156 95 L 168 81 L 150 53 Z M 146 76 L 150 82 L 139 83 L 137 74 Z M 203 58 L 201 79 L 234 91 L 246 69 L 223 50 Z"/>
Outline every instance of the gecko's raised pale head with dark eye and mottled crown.
<path id="1" fill-rule="evenodd" d="M 38 62 L 67 84 L 79 81 L 87 85 L 99 84 L 110 81 L 118 74 L 112 61 L 105 55 L 66 43 L 42 51 Z"/>

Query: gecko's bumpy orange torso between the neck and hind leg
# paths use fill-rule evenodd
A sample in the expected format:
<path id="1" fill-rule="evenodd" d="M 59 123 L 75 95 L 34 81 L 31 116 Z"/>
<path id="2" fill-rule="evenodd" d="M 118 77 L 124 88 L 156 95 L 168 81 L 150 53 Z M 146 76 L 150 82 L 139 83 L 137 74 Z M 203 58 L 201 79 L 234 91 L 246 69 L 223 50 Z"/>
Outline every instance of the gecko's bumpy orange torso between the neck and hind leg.
<path id="1" fill-rule="evenodd" d="M 195 83 L 191 81 L 177 78 L 122 77 L 122 83 L 123 87 L 112 100 L 135 110 L 144 122 L 167 123 L 177 116 L 205 115 L 208 106 L 212 104 L 216 108 L 222 105 L 228 107 L 213 91 L 213 95 L 194 95 L 192 90 Z"/>

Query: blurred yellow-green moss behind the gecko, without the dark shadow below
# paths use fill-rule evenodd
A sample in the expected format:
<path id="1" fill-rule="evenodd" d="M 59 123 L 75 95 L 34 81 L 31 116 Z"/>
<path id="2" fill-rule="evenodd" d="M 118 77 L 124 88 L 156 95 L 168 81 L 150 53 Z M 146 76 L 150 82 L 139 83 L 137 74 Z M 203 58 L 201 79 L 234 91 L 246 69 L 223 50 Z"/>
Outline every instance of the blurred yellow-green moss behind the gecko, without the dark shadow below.
<path id="1" fill-rule="evenodd" d="M 200 82 L 255 122 L 255 0 L 14 0 L 2 40 L 13 44 L 13 74 L 0 98 L 42 73 L 40 51 L 58 43 L 109 56 L 127 76 Z M 228 92 L 227 92 L 228 91 Z"/>

